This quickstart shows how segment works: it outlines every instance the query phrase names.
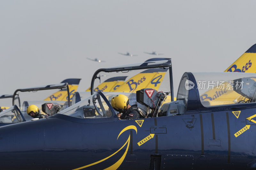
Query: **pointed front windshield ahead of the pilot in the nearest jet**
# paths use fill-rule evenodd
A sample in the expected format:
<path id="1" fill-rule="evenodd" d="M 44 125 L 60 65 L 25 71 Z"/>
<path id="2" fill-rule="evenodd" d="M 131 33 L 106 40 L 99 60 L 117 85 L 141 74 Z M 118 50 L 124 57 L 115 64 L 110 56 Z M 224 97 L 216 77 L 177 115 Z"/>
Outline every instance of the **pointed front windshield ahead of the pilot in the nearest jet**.
<path id="1" fill-rule="evenodd" d="M 61 111 L 59 114 L 87 119 L 111 117 L 112 112 L 109 108 L 110 103 L 105 98 L 105 96 L 104 98 L 103 96 L 104 95 L 100 92 L 94 93 L 88 98 Z"/>

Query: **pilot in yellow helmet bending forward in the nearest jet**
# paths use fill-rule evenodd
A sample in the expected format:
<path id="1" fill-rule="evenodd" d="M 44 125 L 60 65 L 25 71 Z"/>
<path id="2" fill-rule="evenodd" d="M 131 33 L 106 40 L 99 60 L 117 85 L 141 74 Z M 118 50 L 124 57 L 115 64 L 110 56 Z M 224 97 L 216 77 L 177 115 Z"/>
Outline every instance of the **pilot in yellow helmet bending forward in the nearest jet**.
<path id="1" fill-rule="evenodd" d="M 118 119 L 140 119 L 145 116 L 142 116 L 141 110 L 137 107 L 137 105 L 129 105 L 129 99 L 123 94 L 119 94 L 111 99 L 111 106 L 118 111 L 117 117 Z M 140 112 L 141 111 L 141 112 Z M 123 113 L 121 115 L 121 113 Z"/>

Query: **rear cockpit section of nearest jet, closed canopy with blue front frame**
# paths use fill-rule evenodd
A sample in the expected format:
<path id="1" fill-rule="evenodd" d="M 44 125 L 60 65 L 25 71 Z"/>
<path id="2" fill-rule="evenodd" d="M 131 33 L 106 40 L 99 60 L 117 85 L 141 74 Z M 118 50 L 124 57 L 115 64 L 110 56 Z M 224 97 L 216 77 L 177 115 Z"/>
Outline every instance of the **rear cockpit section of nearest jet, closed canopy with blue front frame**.
<path id="1" fill-rule="evenodd" d="M 168 116 L 228 110 L 235 104 L 252 103 L 255 100 L 255 73 L 186 72 L 180 80 L 176 101 L 163 104 L 160 113 Z"/>

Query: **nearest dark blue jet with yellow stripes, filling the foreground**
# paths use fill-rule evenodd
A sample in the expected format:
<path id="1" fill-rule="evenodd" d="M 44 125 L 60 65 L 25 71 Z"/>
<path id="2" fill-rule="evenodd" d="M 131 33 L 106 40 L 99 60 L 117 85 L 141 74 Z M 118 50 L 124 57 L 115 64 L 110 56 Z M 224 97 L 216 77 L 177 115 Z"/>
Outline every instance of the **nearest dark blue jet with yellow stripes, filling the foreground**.
<path id="1" fill-rule="evenodd" d="M 135 77 L 128 84 L 131 92 L 91 90 L 88 98 L 48 118 L 0 127 L 1 168 L 254 169 L 255 73 L 185 72 L 173 101 L 172 63 L 163 60 L 99 69 L 91 89 L 98 86 L 99 75 L 112 72 L 115 77 L 118 71 L 119 76 L 130 73 L 132 77 L 148 69 L 168 70 L 164 79 L 159 75 L 150 82 Z M 200 95 L 216 86 L 218 78 L 237 82 L 219 89 L 219 96 L 228 99 L 225 90 L 233 88 L 248 102 L 202 101 Z M 161 85 L 158 90 L 139 88 L 148 83 Z M 146 107 L 147 118 L 119 120 L 109 102 L 117 93 L 126 95 L 131 104 Z M 164 103 L 167 95 L 172 101 Z"/>

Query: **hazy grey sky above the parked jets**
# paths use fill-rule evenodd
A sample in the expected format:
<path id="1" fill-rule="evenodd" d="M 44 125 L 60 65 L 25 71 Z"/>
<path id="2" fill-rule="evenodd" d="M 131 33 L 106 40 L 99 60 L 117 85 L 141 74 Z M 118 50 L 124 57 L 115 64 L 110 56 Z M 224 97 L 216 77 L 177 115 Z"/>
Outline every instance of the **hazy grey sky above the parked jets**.
<path id="1" fill-rule="evenodd" d="M 1 0 L 0 95 L 164 53 L 182 74 L 221 72 L 256 43 L 256 1 Z M 118 52 L 137 54 L 127 57 Z M 96 63 L 89 58 L 105 60 Z"/>

